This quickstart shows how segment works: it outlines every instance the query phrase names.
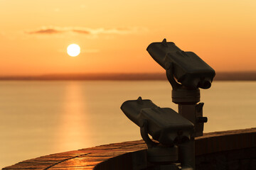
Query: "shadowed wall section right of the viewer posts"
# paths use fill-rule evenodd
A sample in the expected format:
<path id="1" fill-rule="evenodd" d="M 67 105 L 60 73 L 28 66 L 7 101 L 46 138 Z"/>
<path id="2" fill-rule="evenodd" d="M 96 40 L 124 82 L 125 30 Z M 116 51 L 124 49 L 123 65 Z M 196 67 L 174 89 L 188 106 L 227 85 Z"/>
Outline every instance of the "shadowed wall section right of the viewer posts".
<path id="1" fill-rule="evenodd" d="M 196 140 L 196 169 L 256 169 L 256 128 L 213 132 Z"/>

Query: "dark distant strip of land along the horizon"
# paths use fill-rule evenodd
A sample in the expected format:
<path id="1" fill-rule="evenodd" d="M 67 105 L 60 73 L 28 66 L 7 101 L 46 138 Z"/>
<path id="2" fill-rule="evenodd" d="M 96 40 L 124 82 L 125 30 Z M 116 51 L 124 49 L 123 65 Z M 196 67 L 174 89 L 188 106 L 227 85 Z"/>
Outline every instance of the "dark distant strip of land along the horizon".
<path id="1" fill-rule="evenodd" d="M 46 74 L 41 76 L 2 76 L 0 81 L 53 81 L 53 80 L 113 80 L 113 81 L 139 81 L 139 80 L 166 80 L 165 73 L 114 73 L 114 74 Z M 215 81 L 255 81 L 255 72 L 217 72 Z"/>

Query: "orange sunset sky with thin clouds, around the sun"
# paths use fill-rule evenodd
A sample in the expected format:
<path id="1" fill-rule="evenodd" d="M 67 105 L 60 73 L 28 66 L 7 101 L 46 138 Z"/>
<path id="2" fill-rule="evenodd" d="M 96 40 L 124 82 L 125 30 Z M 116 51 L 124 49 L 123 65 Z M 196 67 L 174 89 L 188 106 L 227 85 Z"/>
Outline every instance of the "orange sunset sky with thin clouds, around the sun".
<path id="1" fill-rule="evenodd" d="M 163 72 L 166 38 L 218 71 L 256 70 L 256 1 L 0 0 L 0 75 Z M 82 53 L 69 57 L 69 44 Z"/>

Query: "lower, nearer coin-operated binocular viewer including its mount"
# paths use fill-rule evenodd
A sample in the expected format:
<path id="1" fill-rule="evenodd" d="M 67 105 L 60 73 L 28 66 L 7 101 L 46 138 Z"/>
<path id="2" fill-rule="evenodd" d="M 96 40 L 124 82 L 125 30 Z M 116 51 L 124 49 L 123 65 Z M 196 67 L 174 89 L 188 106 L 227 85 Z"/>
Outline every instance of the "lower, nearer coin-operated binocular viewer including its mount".
<path id="1" fill-rule="evenodd" d="M 150 100 L 139 97 L 125 101 L 121 106 L 127 117 L 140 127 L 142 139 L 146 142 L 147 161 L 155 164 L 168 163 L 168 169 L 178 166 L 178 145 L 189 142 L 193 136 L 193 123 L 171 108 L 159 108 Z M 149 138 L 153 137 L 154 142 Z M 183 167 L 190 167 L 191 149 L 183 150 Z M 159 168 L 159 167 L 158 167 Z"/>

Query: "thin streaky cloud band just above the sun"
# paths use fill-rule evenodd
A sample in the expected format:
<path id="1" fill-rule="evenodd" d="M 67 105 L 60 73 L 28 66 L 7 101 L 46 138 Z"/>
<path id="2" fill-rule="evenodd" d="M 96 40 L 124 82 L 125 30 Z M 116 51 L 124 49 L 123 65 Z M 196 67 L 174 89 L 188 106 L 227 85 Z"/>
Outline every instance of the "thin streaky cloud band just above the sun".
<path id="1" fill-rule="evenodd" d="M 134 33 L 142 33 L 146 32 L 146 28 L 60 28 L 60 27 L 49 27 L 49 28 L 41 28 L 38 30 L 26 31 L 28 34 L 41 34 L 41 35 L 52 35 L 59 33 L 78 33 L 78 34 L 86 34 L 86 35 L 99 35 L 99 34 L 134 34 Z"/>

